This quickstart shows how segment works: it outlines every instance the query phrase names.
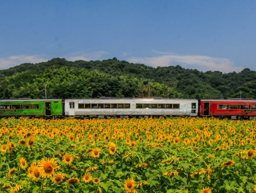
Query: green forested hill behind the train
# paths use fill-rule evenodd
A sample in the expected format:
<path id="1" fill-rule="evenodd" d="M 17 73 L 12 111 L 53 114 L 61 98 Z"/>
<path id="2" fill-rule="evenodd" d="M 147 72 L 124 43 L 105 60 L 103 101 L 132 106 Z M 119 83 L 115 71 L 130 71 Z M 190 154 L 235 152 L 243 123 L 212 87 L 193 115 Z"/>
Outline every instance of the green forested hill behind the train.
<path id="1" fill-rule="evenodd" d="M 181 66 L 150 67 L 119 61 L 67 61 L 54 58 L 0 70 L 0 98 L 99 98 L 150 96 L 184 99 L 256 99 L 256 72 L 203 73 Z"/>

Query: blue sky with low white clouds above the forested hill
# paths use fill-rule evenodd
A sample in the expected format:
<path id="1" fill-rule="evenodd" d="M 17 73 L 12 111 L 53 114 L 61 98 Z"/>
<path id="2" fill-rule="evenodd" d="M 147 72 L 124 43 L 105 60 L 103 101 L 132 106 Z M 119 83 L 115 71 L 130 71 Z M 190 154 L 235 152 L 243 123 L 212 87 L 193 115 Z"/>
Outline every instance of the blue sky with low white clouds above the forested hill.
<path id="1" fill-rule="evenodd" d="M 56 57 L 256 70 L 256 1 L 0 1 L 0 69 Z"/>

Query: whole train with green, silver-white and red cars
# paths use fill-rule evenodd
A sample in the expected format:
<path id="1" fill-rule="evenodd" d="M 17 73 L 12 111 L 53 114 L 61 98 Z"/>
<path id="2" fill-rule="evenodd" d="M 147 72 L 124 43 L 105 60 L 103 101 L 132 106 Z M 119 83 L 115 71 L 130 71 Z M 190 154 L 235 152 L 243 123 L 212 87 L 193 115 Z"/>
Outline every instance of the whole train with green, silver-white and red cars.
<path id="1" fill-rule="evenodd" d="M 0 117 L 61 118 L 214 116 L 256 119 L 256 100 L 242 99 L 9 99 L 0 100 Z"/>

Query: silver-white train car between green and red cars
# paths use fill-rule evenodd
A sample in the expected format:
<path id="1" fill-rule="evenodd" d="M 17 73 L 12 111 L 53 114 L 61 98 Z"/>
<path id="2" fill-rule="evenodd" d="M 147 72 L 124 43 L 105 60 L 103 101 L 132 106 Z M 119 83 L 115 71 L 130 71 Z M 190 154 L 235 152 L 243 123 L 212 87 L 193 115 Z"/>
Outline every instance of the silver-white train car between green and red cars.
<path id="1" fill-rule="evenodd" d="M 100 99 L 66 99 L 66 116 L 106 118 L 116 116 L 150 117 L 150 116 L 197 116 L 196 99 L 162 99 L 162 98 L 100 98 Z"/>

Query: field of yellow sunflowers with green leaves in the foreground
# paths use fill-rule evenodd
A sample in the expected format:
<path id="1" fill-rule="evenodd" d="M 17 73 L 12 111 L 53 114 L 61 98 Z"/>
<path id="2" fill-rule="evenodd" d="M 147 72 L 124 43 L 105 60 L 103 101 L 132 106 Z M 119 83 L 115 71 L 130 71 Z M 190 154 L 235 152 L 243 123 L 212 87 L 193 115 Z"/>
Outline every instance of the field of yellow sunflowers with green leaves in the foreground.
<path id="1" fill-rule="evenodd" d="M 0 192 L 256 192 L 255 120 L 0 119 Z"/>

